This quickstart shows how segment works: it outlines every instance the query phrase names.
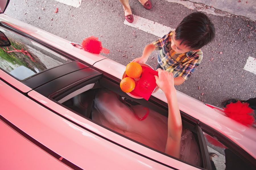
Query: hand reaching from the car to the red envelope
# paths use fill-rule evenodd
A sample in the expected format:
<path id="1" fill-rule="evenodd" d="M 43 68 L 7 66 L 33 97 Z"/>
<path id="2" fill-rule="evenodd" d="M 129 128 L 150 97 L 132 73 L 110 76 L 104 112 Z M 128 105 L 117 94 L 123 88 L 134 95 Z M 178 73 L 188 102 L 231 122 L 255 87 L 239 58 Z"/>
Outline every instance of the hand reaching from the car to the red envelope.
<path id="1" fill-rule="evenodd" d="M 174 78 L 172 73 L 164 71 L 162 69 L 157 69 L 158 76 L 156 78 L 157 86 L 165 93 L 169 94 L 174 88 Z"/>

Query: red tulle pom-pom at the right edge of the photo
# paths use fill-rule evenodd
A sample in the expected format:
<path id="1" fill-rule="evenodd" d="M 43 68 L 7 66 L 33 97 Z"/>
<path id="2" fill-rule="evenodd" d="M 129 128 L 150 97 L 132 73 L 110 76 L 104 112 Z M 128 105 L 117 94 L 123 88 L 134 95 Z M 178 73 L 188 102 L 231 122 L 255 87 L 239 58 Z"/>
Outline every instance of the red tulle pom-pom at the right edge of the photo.
<path id="1" fill-rule="evenodd" d="M 231 119 L 245 125 L 251 126 L 254 123 L 254 112 L 249 103 L 230 103 L 224 108 L 224 113 Z"/>

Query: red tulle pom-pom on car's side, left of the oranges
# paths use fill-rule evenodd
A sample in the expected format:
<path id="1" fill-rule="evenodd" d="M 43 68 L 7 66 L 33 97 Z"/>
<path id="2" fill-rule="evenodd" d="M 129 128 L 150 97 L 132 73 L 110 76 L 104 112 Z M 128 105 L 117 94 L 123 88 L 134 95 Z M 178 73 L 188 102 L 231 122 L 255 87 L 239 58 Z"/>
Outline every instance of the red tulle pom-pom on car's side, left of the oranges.
<path id="1" fill-rule="evenodd" d="M 106 54 L 109 53 L 109 50 L 107 48 L 102 48 L 101 41 L 98 41 L 98 37 L 90 36 L 85 38 L 81 46 L 84 48 L 85 51 L 88 51 L 90 53 L 94 54 L 100 54 L 100 52 L 104 52 Z"/>

